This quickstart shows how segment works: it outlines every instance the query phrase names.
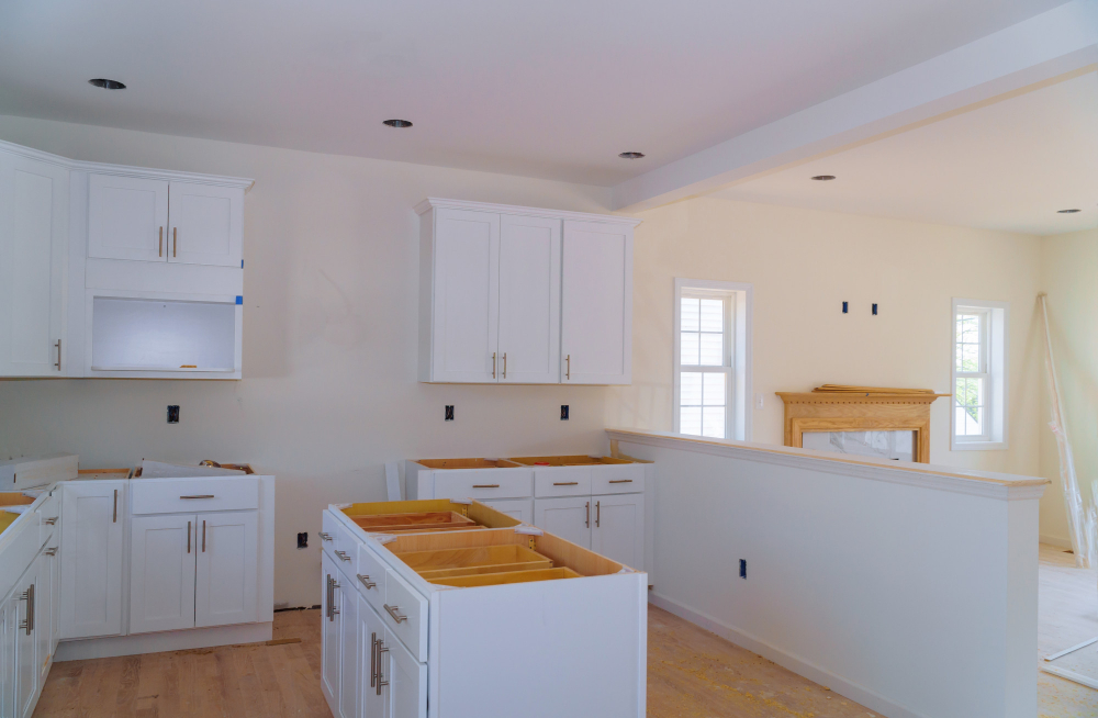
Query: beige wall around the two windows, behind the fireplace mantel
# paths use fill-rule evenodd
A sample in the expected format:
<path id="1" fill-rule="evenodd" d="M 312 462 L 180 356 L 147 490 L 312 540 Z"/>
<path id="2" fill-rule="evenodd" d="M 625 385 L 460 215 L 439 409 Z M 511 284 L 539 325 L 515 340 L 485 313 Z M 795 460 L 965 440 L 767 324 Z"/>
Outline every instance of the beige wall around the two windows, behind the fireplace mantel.
<path id="1" fill-rule="evenodd" d="M 753 439 L 783 442 L 776 391 L 822 383 L 950 391 L 952 298 L 1010 303 L 1009 449 L 951 451 L 949 399 L 931 411 L 931 461 L 1037 474 L 1040 239 L 720 199 L 640 213 L 634 383 L 607 423 L 671 429 L 674 279 L 754 285 Z M 842 302 L 850 313 L 841 313 Z M 872 316 L 876 302 L 879 314 Z"/>

